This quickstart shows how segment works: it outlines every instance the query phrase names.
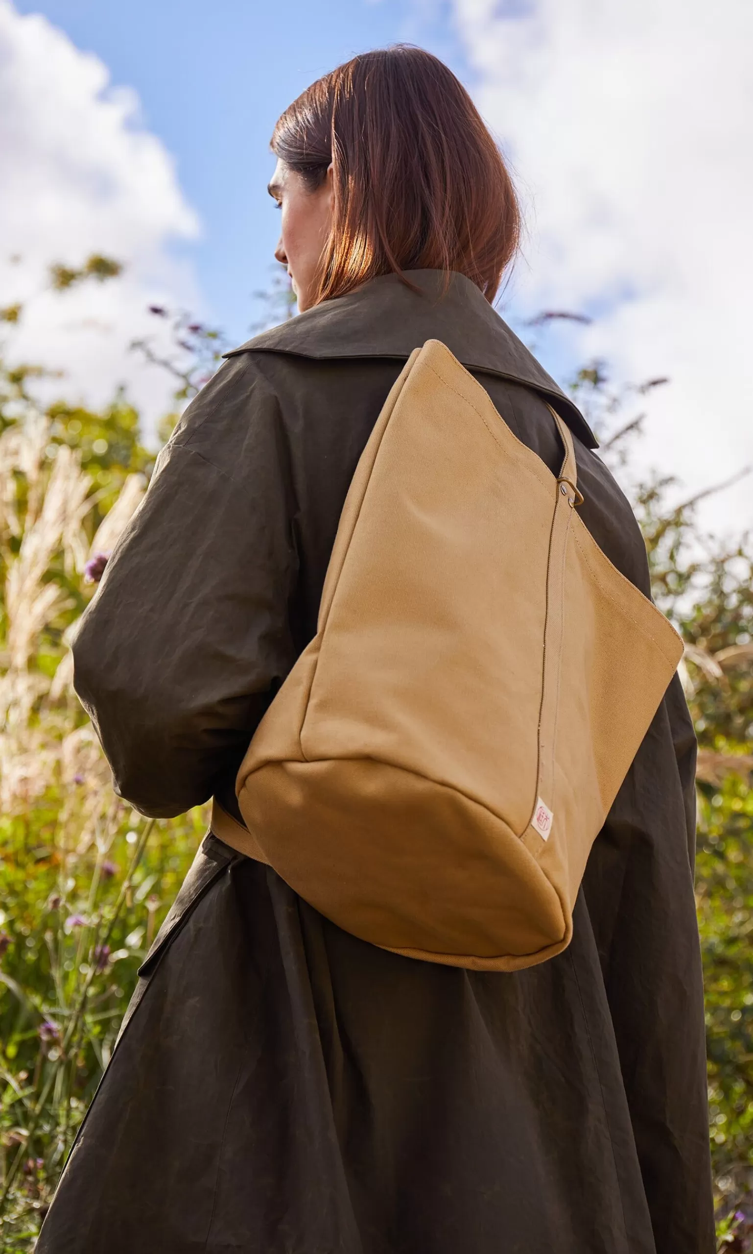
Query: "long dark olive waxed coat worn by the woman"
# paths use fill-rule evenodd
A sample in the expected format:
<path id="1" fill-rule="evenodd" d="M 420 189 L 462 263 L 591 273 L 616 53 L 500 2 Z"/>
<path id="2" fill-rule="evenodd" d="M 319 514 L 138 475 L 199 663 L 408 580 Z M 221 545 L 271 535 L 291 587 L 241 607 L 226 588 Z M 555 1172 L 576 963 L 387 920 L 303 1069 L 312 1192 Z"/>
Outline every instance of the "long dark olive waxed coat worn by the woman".
<path id="1" fill-rule="evenodd" d="M 439 273 L 410 278 L 229 354 L 160 454 L 74 645 L 115 786 L 144 814 L 213 794 L 238 813 L 241 757 L 314 635 L 356 463 L 427 339 L 554 472 L 558 409 L 586 527 L 649 591 L 573 403 L 470 281 L 442 296 Z M 712 1254 L 694 754 L 675 677 L 573 943 L 514 974 L 377 949 L 209 834 L 38 1254 Z"/>

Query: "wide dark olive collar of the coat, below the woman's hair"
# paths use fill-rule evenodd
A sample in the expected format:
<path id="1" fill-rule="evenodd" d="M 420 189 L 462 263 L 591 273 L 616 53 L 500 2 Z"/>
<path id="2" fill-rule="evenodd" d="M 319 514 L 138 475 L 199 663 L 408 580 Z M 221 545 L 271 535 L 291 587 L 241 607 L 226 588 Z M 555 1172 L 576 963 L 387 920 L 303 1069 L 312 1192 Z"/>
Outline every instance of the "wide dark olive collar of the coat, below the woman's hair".
<path id="1" fill-rule="evenodd" d="M 411 291 L 396 275 L 363 287 L 254 336 L 239 352 L 289 352 L 301 357 L 395 357 L 406 360 L 426 340 L 441 340 L 472 370 L 527 384 L 565 419 L 589 449 L 598 448 L 583 414 L 465 275 L 452 273 L 441 295 L 439 270 L 411 270 Z"/>

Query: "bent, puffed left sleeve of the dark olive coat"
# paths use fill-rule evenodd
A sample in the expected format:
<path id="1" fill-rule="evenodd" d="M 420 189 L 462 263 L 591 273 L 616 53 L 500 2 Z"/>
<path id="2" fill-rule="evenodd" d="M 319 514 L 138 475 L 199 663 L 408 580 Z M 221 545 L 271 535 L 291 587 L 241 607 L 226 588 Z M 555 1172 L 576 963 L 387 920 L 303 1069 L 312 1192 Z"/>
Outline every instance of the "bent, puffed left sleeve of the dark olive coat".
<path id="1" fill-rule="evenodd" d="M 160 453 L 73 645 L 115 790 L 144 814 L 212 796 L 291 668 L 293 518 L 277 399 L 231 359 Z"/>

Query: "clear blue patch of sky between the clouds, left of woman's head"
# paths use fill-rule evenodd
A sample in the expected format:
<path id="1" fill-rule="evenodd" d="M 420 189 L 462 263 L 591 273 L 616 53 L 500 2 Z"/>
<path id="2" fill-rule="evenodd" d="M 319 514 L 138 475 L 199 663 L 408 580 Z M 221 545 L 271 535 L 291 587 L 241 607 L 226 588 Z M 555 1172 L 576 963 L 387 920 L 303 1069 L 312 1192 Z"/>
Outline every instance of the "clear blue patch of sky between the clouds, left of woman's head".
<path id="1" fill-rule="evenodd" d="M 421 21 L 403 0 L 18 0 L 15 6 L 43 13 L 76 48 L 95 53 L 115 85 L 138 92 L 144 125 L 177 159 L 183 192 L 202 221 L 202 237 L 183 247 L 208 312 L 232 340 L 246 339 L 259 316 L 252 293 L 268 286 L 274 266 L 268 143 L 287 104 L 353 53 L 401 39 L 431 46 L 467 74 L 447 13 L 437 8 L 434 20 L 427 13 Z"/>

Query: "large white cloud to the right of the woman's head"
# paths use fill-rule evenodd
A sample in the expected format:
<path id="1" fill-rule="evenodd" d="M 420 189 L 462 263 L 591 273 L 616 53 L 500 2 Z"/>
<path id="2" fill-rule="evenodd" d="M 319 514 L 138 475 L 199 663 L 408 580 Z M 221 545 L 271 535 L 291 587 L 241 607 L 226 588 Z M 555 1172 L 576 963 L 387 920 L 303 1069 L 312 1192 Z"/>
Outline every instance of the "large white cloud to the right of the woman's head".
<path id="1" fill-rule="evenodd" d="M 641 458 L 695 489 L 753 463 L 753 5 L 452 0 L 530 228 L 512 306 L 599 310 L 568 342 L 672 376 Z M 753 479 L 704 507 L 753 525 Z"/>

